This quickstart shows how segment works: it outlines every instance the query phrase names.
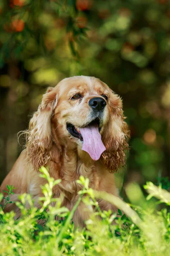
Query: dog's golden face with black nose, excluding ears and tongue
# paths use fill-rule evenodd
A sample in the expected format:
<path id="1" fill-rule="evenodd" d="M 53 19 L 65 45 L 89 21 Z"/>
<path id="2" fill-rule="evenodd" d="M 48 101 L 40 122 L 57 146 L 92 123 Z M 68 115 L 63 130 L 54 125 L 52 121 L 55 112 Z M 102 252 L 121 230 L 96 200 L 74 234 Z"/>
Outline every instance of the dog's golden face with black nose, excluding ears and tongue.
<path id="1" fill-rule="evenodd" d="M 58 103 L 53 119 L 62 139 L 82 147 L 81 128 L 96 126 L 100 134 L 103 133 L 111 112 L 112 92 L 106 84 L 81 76 L 64 79 L 57 89 Z"/>

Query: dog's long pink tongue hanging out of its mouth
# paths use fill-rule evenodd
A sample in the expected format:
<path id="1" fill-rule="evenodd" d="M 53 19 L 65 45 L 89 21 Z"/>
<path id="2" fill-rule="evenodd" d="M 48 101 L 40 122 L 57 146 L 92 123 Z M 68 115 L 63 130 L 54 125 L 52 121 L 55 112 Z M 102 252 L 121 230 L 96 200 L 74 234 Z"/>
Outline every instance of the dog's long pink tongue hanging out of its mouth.
<path id="1" fill-rule="evenodd" d="M 106 148 L 102 143 L 98 125 L 89 125 L 79 129 L 83 137 L 82 150 L 88 152 L 93 160 L 99 160 Z"/>

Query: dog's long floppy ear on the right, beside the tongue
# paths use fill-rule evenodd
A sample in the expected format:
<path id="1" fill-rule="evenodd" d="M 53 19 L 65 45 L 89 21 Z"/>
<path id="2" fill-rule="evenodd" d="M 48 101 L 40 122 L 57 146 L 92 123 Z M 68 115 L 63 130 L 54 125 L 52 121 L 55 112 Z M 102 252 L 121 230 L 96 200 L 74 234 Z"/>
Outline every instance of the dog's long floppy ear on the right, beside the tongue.
<path id="1" fill-rule="evenodd" d="M 124 121 L 120 97 L 112 92 L 109 102 L 109 115 L 111 117 L 102 138 L 106 148 L 102 157 L 105 168 L 113 173 L 125 165 L 130 133 L 127 123 Z"/>

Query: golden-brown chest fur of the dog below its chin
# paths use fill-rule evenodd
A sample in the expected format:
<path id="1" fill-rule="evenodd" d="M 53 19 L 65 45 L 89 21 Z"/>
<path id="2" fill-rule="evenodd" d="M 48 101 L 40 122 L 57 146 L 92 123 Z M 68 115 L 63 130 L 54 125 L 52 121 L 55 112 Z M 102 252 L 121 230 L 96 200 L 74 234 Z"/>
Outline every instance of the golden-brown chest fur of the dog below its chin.
<path id="1" fill-rule="evenodd" d="M 85 157 L 85 162 L 83 162 Z M 114 175 L 110 174 L 100 161 L 89 161 L 87 155 L 77 157 L 77 152 L 65 153 L 62 158 L 61 166 L 57 163 L 50 162 L 50 174 L 54 179 L 61 179 L 61 182 L 54 187 L 54 197 L 58 197 L 61 193 L 65 195 L 70 203 L 77 198 L 77 192 L 82 189 L 82 185 L 77 183 L 80 176 L 88 177 L 89 187 L 95 190 L 106 190 L 111 193 L 115 190 Z"/>

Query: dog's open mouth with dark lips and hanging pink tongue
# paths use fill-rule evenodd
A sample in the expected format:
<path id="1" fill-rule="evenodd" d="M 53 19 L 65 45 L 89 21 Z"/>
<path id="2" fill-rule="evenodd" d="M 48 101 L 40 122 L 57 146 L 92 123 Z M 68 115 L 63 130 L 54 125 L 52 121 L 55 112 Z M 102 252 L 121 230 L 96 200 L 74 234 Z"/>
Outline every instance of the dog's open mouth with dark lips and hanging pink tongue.
<path id="1" fill-rule="evenodd" d="M 82 150 L 88 152 L 93 160 L 99 160 L 105 146 L 102 143 L 100 119 L 96 118 L 83 127 L 67 123 L 68 132 L 83 142 Z"/>

